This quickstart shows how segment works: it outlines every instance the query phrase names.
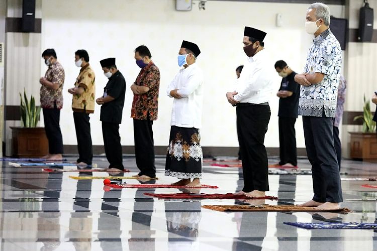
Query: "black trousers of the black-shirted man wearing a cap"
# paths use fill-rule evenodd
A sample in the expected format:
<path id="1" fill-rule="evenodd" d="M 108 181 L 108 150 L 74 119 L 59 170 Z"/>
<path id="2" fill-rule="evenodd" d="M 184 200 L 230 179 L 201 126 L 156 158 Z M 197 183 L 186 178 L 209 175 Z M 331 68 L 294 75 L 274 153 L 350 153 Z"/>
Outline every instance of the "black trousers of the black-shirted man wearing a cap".
<path id="1" fill-rule="evenodd" d="M 102 121 L 102 134 L 106 158 L 110 163 L 109 168 L 124 170 L 119 124 Z"/>

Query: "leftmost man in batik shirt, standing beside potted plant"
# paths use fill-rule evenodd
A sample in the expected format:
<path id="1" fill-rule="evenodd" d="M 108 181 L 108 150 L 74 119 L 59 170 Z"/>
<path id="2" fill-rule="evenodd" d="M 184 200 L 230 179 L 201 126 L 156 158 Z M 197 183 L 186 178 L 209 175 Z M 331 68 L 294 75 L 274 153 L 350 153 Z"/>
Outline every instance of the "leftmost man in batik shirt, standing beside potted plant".
<path id="1" fill-rule="evenodd" d="M 42 58 L 48 66 L 46 74 L 41 77 L 41 107 L 48 139 L 49 154 L 43 159 L 51 161 L 62 160 L 63 138 L 60 131 L 60 109 L 63 108 L 64 69 L 57 61 L 54 49 L 47 49 L 42 53 Z"/>

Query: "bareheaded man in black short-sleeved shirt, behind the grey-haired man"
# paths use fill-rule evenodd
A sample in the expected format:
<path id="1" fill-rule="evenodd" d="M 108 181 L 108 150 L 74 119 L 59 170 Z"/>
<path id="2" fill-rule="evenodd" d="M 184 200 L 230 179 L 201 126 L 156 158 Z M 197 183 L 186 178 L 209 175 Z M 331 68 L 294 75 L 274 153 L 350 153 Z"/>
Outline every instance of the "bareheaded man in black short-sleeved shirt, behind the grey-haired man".
<path id="1" fill-rule="evenodd" d="M 295 82 L 294 72 L 286 62 L 279 60 L 275 63 L 275 70 L 282 77 L 277 96 L 279 100 L 279 142 L 280 162 L 297 166 L 297 148 L 295 123 L 298 115 L 300 85 Z"/>

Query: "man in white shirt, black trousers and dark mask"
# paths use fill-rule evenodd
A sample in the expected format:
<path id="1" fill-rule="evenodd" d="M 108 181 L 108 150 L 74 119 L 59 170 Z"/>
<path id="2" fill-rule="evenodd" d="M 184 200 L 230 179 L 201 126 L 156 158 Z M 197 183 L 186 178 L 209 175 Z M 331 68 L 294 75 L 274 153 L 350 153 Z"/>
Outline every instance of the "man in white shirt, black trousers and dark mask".
<path id="1" fill-rule="evenodd" d="M 243 50 L 247 55 L 237 88 L 227 99 L 237 106 L 238 141 L 241 150 L 244 187 L 236 194 L 264 197 L 268 186 L 268 159 L 264 147 L 271 111 L 268 100 L 273 91 L 271 62 L 263 48 L 266 33 L 245 27 Z"/>

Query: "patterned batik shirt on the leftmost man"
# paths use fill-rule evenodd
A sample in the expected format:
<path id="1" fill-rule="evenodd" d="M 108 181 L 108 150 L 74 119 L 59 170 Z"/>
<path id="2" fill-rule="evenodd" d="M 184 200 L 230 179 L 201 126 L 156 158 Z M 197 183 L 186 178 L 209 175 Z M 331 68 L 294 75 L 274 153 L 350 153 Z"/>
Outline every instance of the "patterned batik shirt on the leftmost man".
<path id="1" fill-rule="evenodd" d="M 63 84 L 64 84 L 64 69 L 59 62 L 51 64 L 45 74 L 45 78 L 53 84 L 58 84 L 57 90 L 47 88 L 45 85 L 41 86 L 41 107 L 52 109 L 56 104 L 56 108 L 63 107 Z"/>

